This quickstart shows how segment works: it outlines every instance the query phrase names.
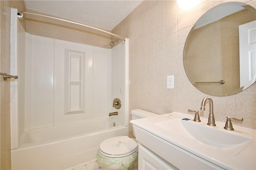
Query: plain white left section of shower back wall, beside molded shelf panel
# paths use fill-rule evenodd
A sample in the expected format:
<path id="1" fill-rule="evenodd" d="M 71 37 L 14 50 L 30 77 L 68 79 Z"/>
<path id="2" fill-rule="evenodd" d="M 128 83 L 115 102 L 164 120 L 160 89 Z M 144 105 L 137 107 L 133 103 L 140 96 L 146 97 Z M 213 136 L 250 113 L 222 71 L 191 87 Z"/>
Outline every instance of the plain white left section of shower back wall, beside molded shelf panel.
<path id="1" fill-rule="evenodd" d="M 52 125 L 54 114 L 54 39 L 27 36 L 31 44 L 26 42 L 25 130 Z"/>

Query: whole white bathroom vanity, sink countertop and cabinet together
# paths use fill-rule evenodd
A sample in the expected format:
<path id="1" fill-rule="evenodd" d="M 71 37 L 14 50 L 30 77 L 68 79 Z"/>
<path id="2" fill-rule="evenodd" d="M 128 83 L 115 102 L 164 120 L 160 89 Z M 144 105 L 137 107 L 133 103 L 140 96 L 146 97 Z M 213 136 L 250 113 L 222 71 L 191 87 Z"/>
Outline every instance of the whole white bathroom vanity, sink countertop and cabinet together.
<path id="1" fill-rule="evenodd" d="M 172 112 L 132 120 L 139 144 L 138 169 L 256 169 L 256 131 Z"/>

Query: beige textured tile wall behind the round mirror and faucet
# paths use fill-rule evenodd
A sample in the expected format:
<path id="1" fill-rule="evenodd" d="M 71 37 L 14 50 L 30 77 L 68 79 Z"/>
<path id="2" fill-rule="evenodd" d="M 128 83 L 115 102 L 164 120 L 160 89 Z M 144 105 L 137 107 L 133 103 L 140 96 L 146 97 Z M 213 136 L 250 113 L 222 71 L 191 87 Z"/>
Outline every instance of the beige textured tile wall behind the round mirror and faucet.
<path id="1" fill-rule="evenodd" d="M 112 33 L 129 38 L 129 111 L 136 108 L 158 114 L 188 113 L 200 109 L 204 94 L 188 80 L 183 67 L 183 48 L 192 26 L 205 12 L 229 0 L 204 0 L 190 10 L 175 0 L 144 1 Z M 256 8 L 256 0 L 238 0 Z M 206 52 L 207 54 L 207 52 Z M 166 76 L 174 75 L 174 89 L 166 88 Z M 212 96 L 215 120 L 244 118 L 238 126 L 256 129 L 256 84 L 232 96 Z M 206 108 L 208 109 L 208 108 Z M 209 110 L 200 111 L 208 118 Z M 129 126 L 131 127 L 131 126 Z M 132 134 L 132 129 L 129 129 Z"/>

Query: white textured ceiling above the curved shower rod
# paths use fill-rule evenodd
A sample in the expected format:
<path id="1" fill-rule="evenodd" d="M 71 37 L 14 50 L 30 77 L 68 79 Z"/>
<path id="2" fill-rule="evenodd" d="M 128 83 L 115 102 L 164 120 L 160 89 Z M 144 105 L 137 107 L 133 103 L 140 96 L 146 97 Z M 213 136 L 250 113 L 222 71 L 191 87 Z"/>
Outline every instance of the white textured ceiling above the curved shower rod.
<path id="1" fill-rule="evenodd" d="M 26 8 L 112 30 L 142 0 L 25 0 Z"/>

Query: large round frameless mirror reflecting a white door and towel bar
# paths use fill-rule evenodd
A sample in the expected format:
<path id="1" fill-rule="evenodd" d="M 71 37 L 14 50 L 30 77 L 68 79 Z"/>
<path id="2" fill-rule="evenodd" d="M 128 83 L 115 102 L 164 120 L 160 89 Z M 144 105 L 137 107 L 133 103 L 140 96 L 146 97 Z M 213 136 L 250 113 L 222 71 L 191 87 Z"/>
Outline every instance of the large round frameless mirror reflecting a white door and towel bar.
<path id="1" fill-rule="evenodd" d="M 241 2 L 220 4 L 194 24 L 183 64 L 190 82 L 212 96 L 229 96 L 256 80 L 256 9 Z"/>

